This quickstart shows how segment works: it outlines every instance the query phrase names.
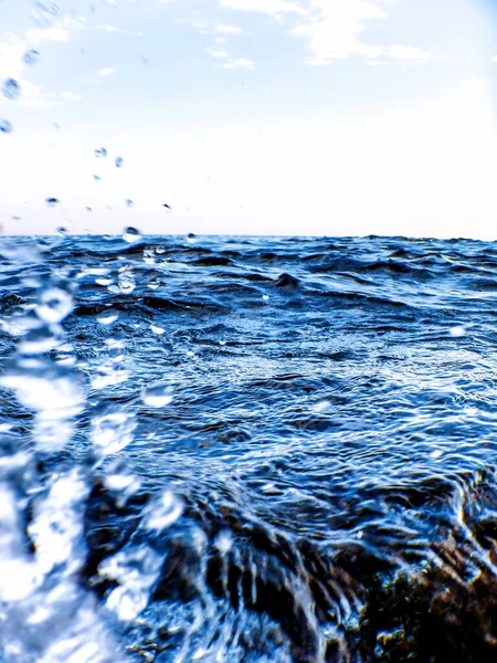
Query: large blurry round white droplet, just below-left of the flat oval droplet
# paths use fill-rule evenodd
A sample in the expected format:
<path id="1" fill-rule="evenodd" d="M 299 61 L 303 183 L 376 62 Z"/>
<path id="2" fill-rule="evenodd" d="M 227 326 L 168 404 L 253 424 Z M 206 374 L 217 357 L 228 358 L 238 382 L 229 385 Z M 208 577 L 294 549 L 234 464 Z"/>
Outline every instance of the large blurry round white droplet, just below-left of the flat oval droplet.
<path id="1" fill-rule="evenodd" d="M 123 451 L 133 442 L 135 429 L 135 414 L 104 409 L 101 414 L 92 419 L 91 440 L 95 451 L 108 455 Z"/>

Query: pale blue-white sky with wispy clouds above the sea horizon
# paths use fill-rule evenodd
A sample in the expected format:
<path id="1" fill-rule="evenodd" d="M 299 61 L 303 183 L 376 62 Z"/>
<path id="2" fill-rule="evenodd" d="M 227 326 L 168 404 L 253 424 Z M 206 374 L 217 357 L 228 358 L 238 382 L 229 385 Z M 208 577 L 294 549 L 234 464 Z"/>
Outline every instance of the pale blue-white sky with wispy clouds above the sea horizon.
<path id="1" fill-rule="evenodd" d="M 0 0 L 3 233 L 497 239 L 495 2 L 57 6 Z"/>

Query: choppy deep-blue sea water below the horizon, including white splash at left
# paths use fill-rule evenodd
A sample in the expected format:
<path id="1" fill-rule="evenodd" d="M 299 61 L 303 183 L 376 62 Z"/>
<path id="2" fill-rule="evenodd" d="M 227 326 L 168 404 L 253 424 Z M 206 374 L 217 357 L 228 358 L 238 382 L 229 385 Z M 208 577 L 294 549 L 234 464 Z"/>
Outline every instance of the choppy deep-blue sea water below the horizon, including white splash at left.
<path id="1" fill-rule="evenodd" d="M 0 659 L 497 656 L 497 245 L 0 240 Z"/>

